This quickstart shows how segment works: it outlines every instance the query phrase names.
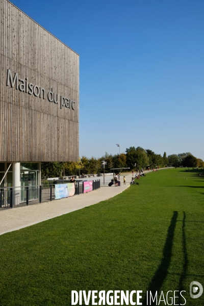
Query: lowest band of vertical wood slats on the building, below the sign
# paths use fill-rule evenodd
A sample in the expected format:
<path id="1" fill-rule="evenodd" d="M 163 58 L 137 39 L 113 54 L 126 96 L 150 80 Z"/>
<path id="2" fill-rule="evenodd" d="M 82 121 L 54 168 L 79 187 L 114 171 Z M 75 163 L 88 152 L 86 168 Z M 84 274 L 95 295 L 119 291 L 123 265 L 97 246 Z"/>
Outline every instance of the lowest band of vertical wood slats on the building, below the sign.
<path id="1" fill-rule="evenodd" d="M 27 119 L 19 122 L 19 117 Z M 78 122 L 70 120 L 60 121 L 57 120 L 55 116 L 31 111 L 30 109 L 21 108 L 20 106 L 4 103 L 2 101 L 0 101 L 0 120 L 0 128 L 3 132 L 1 133 L 1 141 L 4 141 L 5 138 L 7 140 L 9 139 L 9 141 L 7 141 L 7 146 L 1 146 L 0 151 L 0 154 L 5 157 L 8 156 L 8 159 L 5 158 L 1 161 L 12 161 L 12 157 L 18 161 L 37 161 L 36 157 L 38 157 L 40 161 L 45 161 L 45 154 L 48 154 L 48 161 L 56 161 L 57 155 L 60 155 L 59 159 L 62 161 L 65 158 L 64 154 L 66 154 L 66 152 L 71 159 L 74 158 L 73 155 L 75 155 L 75 152 L 72 146 L 73 141 L 68 141 L 67 137 L 64 137 L 62 131 L 65 130 L 66 135 L 69 135 L 69 138 L 73 140 L 73 138 L 78 135 Z M 8 121 L 9 124 L 6 124 Z M 36 121 L 42 122 L 42 124 L 36 124 Z M 22 122 L 24 122 L 23 125 L 21 125 Z M 12 129 L 13 125 L 17 128 Z M 44 129 L 41 129 L 42 125 L 45 129 L 49 129 L 49 133 L 46 134 L 46 137 L 43 135 Z M 23 131 L 25 132 L 23 133 Z M 18 150 L 18 139 L 23 139 L 23 135 L 26 135 L 23 142 L 24 150 L 20 152 Z M 36 135 L 39 135 L 38 142 L 35 142 Z M 63 149 L 61 149 L 61 147 Z M 71 151 L 69 150 L 70 148 Z M 52 156 L 54 156 L 54 159 Z"/>

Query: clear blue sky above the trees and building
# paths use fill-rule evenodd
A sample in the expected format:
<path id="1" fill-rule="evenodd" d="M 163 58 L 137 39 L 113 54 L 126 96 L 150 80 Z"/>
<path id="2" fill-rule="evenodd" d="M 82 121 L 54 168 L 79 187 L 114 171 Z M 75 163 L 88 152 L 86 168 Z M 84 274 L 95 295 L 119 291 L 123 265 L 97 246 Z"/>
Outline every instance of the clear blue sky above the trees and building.
<path id="1" fill-rule="evenodd" d="M 204 160 L 203 0 L 13 0 L 80 55 L 80 156 Z"/>

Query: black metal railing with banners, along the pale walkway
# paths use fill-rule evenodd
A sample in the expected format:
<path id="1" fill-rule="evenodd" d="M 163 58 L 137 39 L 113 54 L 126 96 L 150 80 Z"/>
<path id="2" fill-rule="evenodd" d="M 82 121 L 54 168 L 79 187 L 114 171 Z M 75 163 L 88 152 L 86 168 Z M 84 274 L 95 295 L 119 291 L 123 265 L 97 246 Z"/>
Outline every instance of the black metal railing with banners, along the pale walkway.
<path id="1" fill-rule="evenodd" d="M 61 182 L 60 182 L 61 183 Z M 93 181 L 93 190 L 100 188 L 100 180 Z M 84 182 L 76 182 L 75 193 L 84 193 Z M 0 188 L 0 210 L 28 206 L 55 200 L 55 185 Z"/>

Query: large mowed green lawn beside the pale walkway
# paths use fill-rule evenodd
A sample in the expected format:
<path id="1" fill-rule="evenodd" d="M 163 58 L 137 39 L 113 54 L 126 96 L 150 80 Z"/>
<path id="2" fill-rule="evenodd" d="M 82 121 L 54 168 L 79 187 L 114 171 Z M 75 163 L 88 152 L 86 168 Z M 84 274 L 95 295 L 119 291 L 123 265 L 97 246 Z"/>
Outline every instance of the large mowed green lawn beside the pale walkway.
<path id="1" fill-rule="evenodd" d="M 185 290 L 186 305 L 203 305 L 189 285 L 204 287 L 204 180 L 184 170 L 0 236 L 0 305 L 71 305 L 71 290 Z"/>

